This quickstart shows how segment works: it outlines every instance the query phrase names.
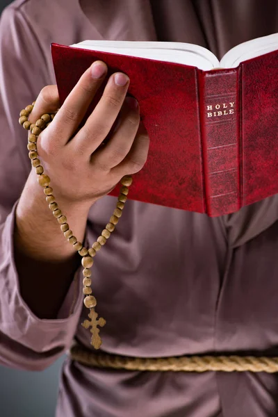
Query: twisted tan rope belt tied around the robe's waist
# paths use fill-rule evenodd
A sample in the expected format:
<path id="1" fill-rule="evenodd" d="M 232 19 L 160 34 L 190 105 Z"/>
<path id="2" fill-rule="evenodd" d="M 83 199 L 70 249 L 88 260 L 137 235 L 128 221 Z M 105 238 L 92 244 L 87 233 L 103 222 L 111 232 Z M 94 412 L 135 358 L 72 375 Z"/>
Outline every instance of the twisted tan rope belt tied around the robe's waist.
<path id="1" fill-rule="evenodd" d="M 97 368 L 152 370 L 174 372 L 278 372 L 278 357 L 252 356 L 181 356 L 166 358 L 125 357 L 103 352 L 95 353 L 81 345 L 70 348 L 70 357 L 83 365 Z"/>

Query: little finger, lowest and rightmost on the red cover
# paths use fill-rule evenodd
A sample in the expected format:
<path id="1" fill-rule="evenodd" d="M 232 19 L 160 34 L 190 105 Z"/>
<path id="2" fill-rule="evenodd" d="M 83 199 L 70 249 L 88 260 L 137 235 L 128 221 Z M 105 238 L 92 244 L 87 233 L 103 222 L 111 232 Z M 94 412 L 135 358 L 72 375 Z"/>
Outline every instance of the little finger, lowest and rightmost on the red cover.
<path id="1" fill-rule="evenodd" d="M 126 173 L 136 174 L 136 172 L 142 170 L 142 167 L 145 165 L 148 152 L 149 136 L 147 135 L 145 126 L 140 122 L 130 152 L 119 165 L 111 170 L 111 174 L 115 174 L 115 176 L 119 178 L 122 178 Z"/>

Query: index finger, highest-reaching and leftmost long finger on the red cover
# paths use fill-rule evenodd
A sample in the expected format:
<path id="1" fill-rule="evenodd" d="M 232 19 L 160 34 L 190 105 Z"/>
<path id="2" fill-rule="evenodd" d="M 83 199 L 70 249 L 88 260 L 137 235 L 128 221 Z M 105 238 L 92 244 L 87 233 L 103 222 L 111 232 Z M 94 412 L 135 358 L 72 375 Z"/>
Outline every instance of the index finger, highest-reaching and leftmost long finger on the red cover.
<path id="1" fill-rule="evenodd" d="M 88 106 L 106 76 L 107 66 L 102 61 L 95 61 L 79 79 L 63 106 L 58 111 L 52 129 L 58 133 L 59 145 L 64 146 L 74 135 L 85 116 Z"/>

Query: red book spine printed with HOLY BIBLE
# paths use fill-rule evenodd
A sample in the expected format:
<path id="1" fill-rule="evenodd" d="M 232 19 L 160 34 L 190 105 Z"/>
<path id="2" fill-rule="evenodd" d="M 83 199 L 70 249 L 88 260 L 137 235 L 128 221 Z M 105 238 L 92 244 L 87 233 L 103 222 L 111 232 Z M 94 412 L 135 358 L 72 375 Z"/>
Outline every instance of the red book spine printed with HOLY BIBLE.
<path id="1" fill-rule="evenodd" d="M 240 67 L 199 71 L 199 111 L 206 213 L 241 206 Z"/>

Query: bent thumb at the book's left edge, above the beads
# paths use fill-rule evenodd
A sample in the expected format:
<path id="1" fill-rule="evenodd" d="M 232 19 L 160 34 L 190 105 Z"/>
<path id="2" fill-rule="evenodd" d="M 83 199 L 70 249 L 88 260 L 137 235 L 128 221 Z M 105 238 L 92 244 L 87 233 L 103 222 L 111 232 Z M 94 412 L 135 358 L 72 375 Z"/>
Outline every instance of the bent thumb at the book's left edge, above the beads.
<path id="1" fill-rule="evenodd" d="M 60 101 L 57 85 L 46 85 L 40 91 L 28 120 L 31 123 L 35 123 L 44 113 L 54 113 L 59 107 Z"/>

